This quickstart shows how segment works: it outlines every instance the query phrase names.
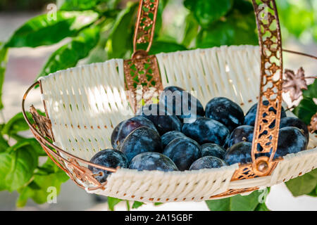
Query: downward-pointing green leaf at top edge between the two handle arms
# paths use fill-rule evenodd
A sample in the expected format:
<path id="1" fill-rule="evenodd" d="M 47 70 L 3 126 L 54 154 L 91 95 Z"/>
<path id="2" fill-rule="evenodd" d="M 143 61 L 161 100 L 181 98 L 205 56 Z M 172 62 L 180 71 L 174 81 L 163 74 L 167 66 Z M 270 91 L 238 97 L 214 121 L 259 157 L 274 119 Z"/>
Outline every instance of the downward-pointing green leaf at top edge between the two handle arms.
<path id="1" fill-rule="evenodd" d="M 185 6 L 189 8 L 201 27 L 209 27 L 213 22 L 223 17 L 230 8 L 232 0 L 185 0 Z"/>

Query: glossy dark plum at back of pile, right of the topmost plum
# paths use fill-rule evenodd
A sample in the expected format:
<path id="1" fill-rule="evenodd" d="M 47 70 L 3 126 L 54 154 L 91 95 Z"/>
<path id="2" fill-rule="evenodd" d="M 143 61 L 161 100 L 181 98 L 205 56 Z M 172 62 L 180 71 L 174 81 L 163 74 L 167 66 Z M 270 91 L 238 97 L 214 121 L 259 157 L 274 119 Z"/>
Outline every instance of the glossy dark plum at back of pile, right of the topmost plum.
<path id="1" fill-rule="evenodd" d="M 243 124 L 244 113 L 242 108 L 228 98 L 217 97 L 211 99 L 205 110 L 207 118 L 221 122 L 230 132 Z"/>

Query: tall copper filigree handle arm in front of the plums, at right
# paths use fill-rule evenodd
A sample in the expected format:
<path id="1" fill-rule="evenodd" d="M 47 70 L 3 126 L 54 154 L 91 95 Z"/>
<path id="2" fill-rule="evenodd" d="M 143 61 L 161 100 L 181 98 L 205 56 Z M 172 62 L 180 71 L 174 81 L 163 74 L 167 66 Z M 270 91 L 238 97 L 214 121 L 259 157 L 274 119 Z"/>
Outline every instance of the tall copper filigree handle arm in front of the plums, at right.
<path id="1" fill-rule="evenodd" d="M 259 32 L 261 51 L 260 95 L 254 126 L 251 158 L 256 169 L 256 156 L 271 153 L 266 169 L 271 170 L 268 162 L 278 144 L 280 111 L 282 107 L 282 43 L 278 13 L 273 0 L 252 0 Z M 260 2 L 261 4 L 257 4 Z"/>

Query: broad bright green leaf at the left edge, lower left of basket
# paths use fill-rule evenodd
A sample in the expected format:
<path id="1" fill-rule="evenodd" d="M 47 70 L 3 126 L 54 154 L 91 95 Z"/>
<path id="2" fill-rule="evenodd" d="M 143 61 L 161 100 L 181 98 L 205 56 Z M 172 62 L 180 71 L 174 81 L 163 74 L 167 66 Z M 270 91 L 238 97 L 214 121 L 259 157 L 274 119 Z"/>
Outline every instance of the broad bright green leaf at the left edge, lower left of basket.
<path id="1" fill-rule="evenodd" d="M 34 150 L 20 146 L 10 153 L 0 153 L 0 191 L 15 191 L 30 181 L 37 167 Z"/>

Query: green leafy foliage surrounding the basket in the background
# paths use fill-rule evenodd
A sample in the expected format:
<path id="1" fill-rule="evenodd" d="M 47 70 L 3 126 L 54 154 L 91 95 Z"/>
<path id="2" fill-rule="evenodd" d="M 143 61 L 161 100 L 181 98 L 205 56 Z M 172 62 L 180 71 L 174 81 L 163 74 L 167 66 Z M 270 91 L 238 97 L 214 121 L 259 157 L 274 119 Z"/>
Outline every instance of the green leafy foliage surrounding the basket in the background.
<path id="1" fill-rule="evenodd" d="M 282 27 L 295 37 L 302 37 L 309 30 L 317 39 L 316 17 L 313 16 L 317 4 L 311 0 L 304 1 L 304 4 L 302 2 L 277 1 Z M 130 58 L 137 13 L 135 1 L 128 1 L 124 6 L 120 0 L 57 0 L 57 5 L 56 19 L 46 14 L 38 15 L 18 28 L 6 43 L 0 43 L 0 110 L 4 108 L 1 90 L 10 48 L 36 48 L 57 44 L 67 38 L 67 43 L 51 54 L 37 77 L 82 62 Z M 220 45 L 258 44 L 250 1 L 185 0 L 183 6 L 178 6 L 180 13 L 173 13 L 173 17 L 166 21 L 163 20 L 163 12 L 169 6 L 173 6 L 173 1 L 160 1 L 150 54 Z M 171 25 L 166 25 L 168 23 Z M 178 30 L 175 31 L 176 27 Z M 175 37 L 175 34 L 179 37 Z M 311 84 L 303 92 L 304 99 L 294 109 L 294 113 L 307 124 L 317 110 L 313 102 L 313 98 L 317 98 L 316 85 L 316 82 Z M 27 117 L 32 120 L 30 113 L 27 113 Z M 44 165 L 38 165 L 39 157 L 46 154 L 35 139 L 21 135 L 20 131 L 27 129 L 22 113 L 0 124 L 0 191 L 18 191 L 18 207 L 23 207 L 28 199 L 39 204 L 45 203 L 49 194 L 47 188 L 55 186 L 59 192 L 61 184 L 68 180 L 68 176 L 47 156 Z M 13 139 L 14 144 L 9 144 L 8 139 Z M 292 179 L 287 182 L 287 187 L 293 195 L 316 196 L 315 173 Z M 211 210 L 266 211 L 268 208 L 265 203 L 259 203 L 260 195 L 254 192 L 247 196 L 237 195 L 206 203 Z M 109 209 L 114 210 L 120 201 L 109 197 Z M 130 210 L 130 203 L 126 203 Z M 132 209 L 143 204 L 135 201 Z"/>

